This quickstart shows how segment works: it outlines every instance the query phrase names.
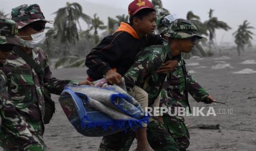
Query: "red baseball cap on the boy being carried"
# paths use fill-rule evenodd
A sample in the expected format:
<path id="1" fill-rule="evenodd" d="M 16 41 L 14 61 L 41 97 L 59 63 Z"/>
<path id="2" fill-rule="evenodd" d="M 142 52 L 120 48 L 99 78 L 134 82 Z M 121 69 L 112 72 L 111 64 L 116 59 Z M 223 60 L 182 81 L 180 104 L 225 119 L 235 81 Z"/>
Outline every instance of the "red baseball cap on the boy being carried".
<path id="1" fill-rule="evenodd" d="M 129 4 L 128 14 L 129 15 L 134 15 L 139 10 L 144 9 L 144 8 L 154 9 L 154 5 L 148 0 L 135 0 L 132 3 Z"/>

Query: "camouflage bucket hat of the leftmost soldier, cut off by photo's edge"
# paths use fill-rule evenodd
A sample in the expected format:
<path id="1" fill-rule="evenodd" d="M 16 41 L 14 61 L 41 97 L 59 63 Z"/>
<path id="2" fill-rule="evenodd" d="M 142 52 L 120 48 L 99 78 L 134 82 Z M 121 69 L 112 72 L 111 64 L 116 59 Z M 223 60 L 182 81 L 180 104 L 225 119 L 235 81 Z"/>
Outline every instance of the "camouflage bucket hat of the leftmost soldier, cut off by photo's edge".
<path id="1" fill-rule="evenodd" d="M 14 44 L 25 47 L 25 42 L 17 37 L 18 25 L 13 20 L 0 16 L 0 44 Z"/>

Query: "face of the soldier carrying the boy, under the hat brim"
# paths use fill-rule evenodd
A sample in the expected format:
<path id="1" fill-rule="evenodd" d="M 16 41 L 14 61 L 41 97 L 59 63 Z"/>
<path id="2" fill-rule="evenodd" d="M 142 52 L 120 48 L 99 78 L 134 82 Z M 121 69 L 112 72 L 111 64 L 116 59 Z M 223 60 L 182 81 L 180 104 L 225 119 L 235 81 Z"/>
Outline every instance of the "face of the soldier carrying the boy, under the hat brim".
<path id="1" fill-rule="evenodd" d="M 187 39 L 177 39 L 177 45 L 179 50 L 182 53 L 190 53 L 192 49 L 194 48 L 195 42 L 191 40 L 190 38 Z"/>

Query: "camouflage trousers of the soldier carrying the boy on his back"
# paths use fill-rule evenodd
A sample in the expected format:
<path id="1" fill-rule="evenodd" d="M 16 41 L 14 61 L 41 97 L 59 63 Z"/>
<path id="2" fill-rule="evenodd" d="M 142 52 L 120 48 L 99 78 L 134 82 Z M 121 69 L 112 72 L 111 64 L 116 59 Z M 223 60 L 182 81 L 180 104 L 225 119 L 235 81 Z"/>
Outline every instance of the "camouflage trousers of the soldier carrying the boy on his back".
<path id="1" fill-rule="evenodd" d="M 178 146 L 164 125 L 157 120 L 152 120 L 147 127 L 148 142 L 155 151 L 174 150 Z M 135 138 L 134 131 L 118 132 L 102 138 L 98 151 L 128 151 Z"/>

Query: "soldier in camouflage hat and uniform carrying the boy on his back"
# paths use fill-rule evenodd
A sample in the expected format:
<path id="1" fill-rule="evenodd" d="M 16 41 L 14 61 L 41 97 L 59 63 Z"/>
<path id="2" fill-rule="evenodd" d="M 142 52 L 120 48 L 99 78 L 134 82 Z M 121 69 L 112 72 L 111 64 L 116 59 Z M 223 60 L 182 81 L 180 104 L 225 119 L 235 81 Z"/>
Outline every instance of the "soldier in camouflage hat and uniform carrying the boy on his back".
<path id="1" fill-rule="evenodd" d="M 162 36 L 166 38 L 164 44 L 153 45 L 141 50 L 138 54 L 137 61 L 124 74 L 127 91 L 131 91 L 135 85 L 143 88 L 148 92 L 149 106 L 159 96 L 162 90 L 162 84 L 166 78 L 166 74 L 157 73 L 162 63 L 172 59 L 172 56 L 179 55 L 181 52 L 189 53 L 195 44 L 195 38 L 201 38 L 196 33 L 197 28 L 189 21 L 177 19 L 172 22 L 172 25 L 166 27 L 161 32 L 163 33 Z M 176 31 L 177 37 L 170 36 L 170 31 L 172 30 Z M 179 31 L 178 34 L 177 31 Z M 193 39 L 190 37 L 193 37 Z M 157 120 L 151 121 L 148 124 L 147 135 L 150 146 L 154 150 L 179 150 L 170 133 Z M 116 133 L 115 135 L 104 138 L 100 150 L 104 150 L 102 148 L 108 148 L 105 150 L 129 150 L 130 143 L 132 143 L 133 139 L 134 136 L 129 135 L 129 133 L 125 136 L 122 133 Z M 119 144 L 119 146 L 116 144 Z"/>

